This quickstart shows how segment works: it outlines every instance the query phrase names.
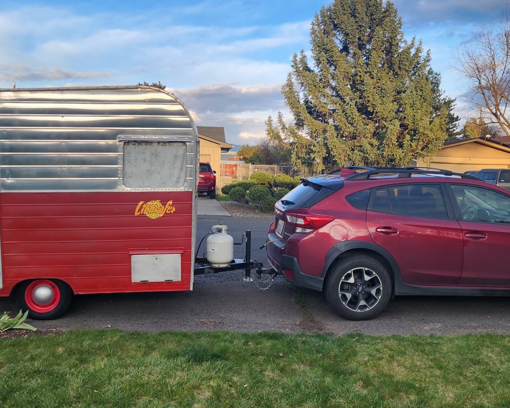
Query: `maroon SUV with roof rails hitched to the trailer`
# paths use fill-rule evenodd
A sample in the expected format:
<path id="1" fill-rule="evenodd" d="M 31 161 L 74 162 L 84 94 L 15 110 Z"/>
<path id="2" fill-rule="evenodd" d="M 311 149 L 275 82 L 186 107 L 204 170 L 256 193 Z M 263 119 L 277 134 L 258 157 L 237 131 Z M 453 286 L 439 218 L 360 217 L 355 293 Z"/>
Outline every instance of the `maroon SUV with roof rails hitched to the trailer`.
<path id="1" fill-rule="evenodd" d="M 351 320 L 395 295 L 510 295 L 510 192 L 437 169 L 351 167 L 274 206 L 267 255 Z"/>

